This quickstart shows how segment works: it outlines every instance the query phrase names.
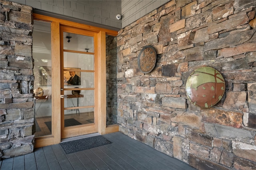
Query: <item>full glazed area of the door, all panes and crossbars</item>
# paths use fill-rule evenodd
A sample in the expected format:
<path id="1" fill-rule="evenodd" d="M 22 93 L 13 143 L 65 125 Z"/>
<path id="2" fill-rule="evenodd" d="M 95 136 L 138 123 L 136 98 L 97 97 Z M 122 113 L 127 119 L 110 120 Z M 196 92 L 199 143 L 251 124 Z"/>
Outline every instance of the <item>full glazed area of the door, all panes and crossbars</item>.
<path id="1" fill-rule="evenodd" d="M 94 39 L 67 32 L 63 37 L 64 127 L 94 123 Z"/>

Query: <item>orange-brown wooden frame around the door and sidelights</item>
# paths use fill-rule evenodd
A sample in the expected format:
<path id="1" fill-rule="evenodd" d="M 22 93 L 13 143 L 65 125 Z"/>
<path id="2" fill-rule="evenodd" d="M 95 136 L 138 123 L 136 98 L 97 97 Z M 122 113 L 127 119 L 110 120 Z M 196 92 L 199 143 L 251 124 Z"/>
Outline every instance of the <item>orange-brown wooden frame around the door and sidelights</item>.
<path id="1" fill-rule="evenodd" d="M 43 16 L 40 14 L 33 14 L 34 20 L 46 21 L 51 23 L 51 43 L 52 43 L 52 80 L 56 82 L 52 84 L 52 134 L 35 138 L 35 147 L 44 147 L 48 145 L 54 145 L 61 142 L 61 100 L 60 100 L 60 25 L 74 27 L 77 29 L 83 29 L 98 33 L 98 55 L 100 61 L 98 61 L 98 76 L 99 81 L 95 86 L 98 86 L 97 95 L 98 108 L 98 133 L 101 135 L 106 133 L 112 133 L 119 131 L 118 125 L 106 126 L 106 35 L 117 36 L 118 32 L 94 27 L 90 25 L 84 25 L 82 23 L 76 23 L 72 21 L 62 20 L 49 16 Z M 96 98 L 96 97 L 95 97 Z"/>

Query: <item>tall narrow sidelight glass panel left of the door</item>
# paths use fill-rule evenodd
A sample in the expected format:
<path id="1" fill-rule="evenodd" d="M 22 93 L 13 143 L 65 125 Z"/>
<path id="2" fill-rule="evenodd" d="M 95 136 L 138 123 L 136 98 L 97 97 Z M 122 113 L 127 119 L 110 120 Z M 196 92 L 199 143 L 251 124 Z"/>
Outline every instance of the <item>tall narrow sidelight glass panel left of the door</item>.
<path id="1" fill-rule="evenodd" d="M 34 21 L 33 52 L 34 59 L 34 102 L 35 137 L 51 134 L 52 125 L 52 54 L 51 24 Z"/>

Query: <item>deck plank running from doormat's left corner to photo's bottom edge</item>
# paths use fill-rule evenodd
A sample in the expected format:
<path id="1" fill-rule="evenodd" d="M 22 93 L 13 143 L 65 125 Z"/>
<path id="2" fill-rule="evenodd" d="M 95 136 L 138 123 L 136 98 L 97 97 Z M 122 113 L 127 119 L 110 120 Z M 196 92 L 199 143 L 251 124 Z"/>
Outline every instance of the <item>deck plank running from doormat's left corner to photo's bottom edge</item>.
<path id="1" fill-rule="evenodd" d="M 66 154 L 61 149 L 60 145 L 52 145 L 52 150 L 54 151 L 54 154 L 60 164 L 60 167 L 62 170 L 72 170 L 73 167 L 68 161 L 68 158 L 66 157 Z"/>

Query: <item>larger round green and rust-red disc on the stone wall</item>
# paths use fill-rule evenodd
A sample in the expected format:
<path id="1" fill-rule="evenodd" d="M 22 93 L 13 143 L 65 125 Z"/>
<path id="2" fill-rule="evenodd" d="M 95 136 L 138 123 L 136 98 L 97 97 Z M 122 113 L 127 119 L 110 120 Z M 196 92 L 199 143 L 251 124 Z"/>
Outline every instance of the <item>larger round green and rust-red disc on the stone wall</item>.
<path id="1" fill-rule="evenodd" d="M 224 78 L 212 67 L 201 67 L 190 74 L 186 94 L 190 102 L 199 107 L 217 104 L 225 92 Z"/>

